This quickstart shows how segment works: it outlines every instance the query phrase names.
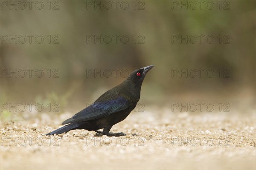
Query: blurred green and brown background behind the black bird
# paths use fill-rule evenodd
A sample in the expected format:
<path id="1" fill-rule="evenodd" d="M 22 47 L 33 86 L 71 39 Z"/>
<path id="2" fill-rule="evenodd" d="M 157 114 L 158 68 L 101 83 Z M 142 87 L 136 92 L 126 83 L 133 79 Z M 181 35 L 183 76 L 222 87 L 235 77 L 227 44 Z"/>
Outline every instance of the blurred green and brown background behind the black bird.
<path id="1" fill-rule="evenodd" d="M 147 105 L 207 101 L 233 103 L 233 111 L 236 107 L 241 111 L 255 110 L 253 0 L 210 1 L 210 5 L 214 4 L 212 9 L 207 8 L 208 1 L 202 8 L 199 3 L 194 8 L 191 1 L 128 0 L 127 9 L 123 9 L 125 4 L 121 6 L 123 1 L 118 1 L 116 8 L 113 1 L 108 1 L 112 7 L 105 1 L 41 1 L 41 10 L 35 8 L 37 1 L 31 9 L 19 9 L 23 4 L 17 4 L 17 10 L 2 2 L 1 103 L 57 102 L 60 113 L 80 111 L 85 103 L 121 83 L 125 79 L 122 70 L 131 72 L 154 64 L 141 91 L 140 102 L 145 103 L 145 110 Z M 5 40 L 9 35 L 34 37 L 31 43 L 28 37 L 20 43 L 21 36 L 15 43 Z M 35 42 L 37 35 L 44 37 L 42 43 Z M 90 40 L 95 35 L 106 39 L 95 43 Z M 118 35 L 116 43 L 113 35 Z M 187 43 L 175 40 L 176 36 L 186 35 L 191 38 Z M 202 43 L 198 35 L 204 35 Z M 214 37 L 212 43 L 207 42 L 208 35 Z M 128 37 L 128 42 L 123 43 L 121 36 Z M 113 39 L 107 43 L 109 37 Z M 193 37 L 198 38 L 195 43 Z M 35 77 L 32 71 L 30 78 L 27 71 L 26 77 L 16 78 L 3 74 L 6 69 L 42 69 L 44 76 Z M 88 74 L 101 69 L 102 75 Z M 111 76 L 107 69 L 112 71 Z M 113 69 L 119 69 L 116 76 Z M 172 74 L 180 69 L 212 69 L 214 76 L 207 77 L 205 72 L 202 77 Z M 53 78 L 55 74 L 57 77 Z"/>

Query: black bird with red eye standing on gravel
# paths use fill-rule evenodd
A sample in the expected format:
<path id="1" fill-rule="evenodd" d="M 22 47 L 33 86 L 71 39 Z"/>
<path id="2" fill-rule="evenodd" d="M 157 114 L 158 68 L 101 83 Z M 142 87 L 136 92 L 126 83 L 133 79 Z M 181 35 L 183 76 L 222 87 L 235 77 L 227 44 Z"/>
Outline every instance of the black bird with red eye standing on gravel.
<path id="1" fill-rule="evenodd" d="M 133 71 L 124 82 L 102 94 L 87 108 L 76 113 L 61 125 L 68 124 L 46 135 L 61 134 L 74 129 L 93 130 L 107 136 L 125 136 L 125 133 L 109 133 L 111 127 L 124 120 L 140 100 L 140 89 L 145 75 L 154 67 L 149 65 Z M 99 131 L 102 129 L 103 131 Z"/>

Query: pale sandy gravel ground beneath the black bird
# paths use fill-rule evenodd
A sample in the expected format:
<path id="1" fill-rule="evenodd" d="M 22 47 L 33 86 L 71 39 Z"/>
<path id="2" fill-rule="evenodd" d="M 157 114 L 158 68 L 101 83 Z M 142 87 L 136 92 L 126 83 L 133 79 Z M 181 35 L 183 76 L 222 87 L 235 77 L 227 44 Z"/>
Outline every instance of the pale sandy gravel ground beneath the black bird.
<path id="1" fill-rule="evenodd" d="M 73 114 L 15 115 L 1 121 L 0 168 L 256 169 L 255 112 L 157 112 L 131 113 L 114 125 L 124 137 L 87 130 L 48 137 Z"/>

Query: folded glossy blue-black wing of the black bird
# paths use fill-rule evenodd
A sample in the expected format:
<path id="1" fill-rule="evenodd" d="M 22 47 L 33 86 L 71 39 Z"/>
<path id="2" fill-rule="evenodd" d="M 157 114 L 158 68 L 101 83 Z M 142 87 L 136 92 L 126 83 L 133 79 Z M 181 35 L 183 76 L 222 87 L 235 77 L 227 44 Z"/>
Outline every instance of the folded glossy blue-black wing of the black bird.
<path id="1" fill-rule="evenodd" d="M 119 97 L 117 99 L 112 99 L 108 101 L 94 102 L 87 108 L 76 113 L 74 116 L 72 116 L 72 118 L 65 120 L 62 123 L 62 125 L 73 122 L 99 119 L 102 117 L 109 116 L 112 113 L 122 111 L 126 108 L 128 108 L 127 100 L 123 97 Z"/>

